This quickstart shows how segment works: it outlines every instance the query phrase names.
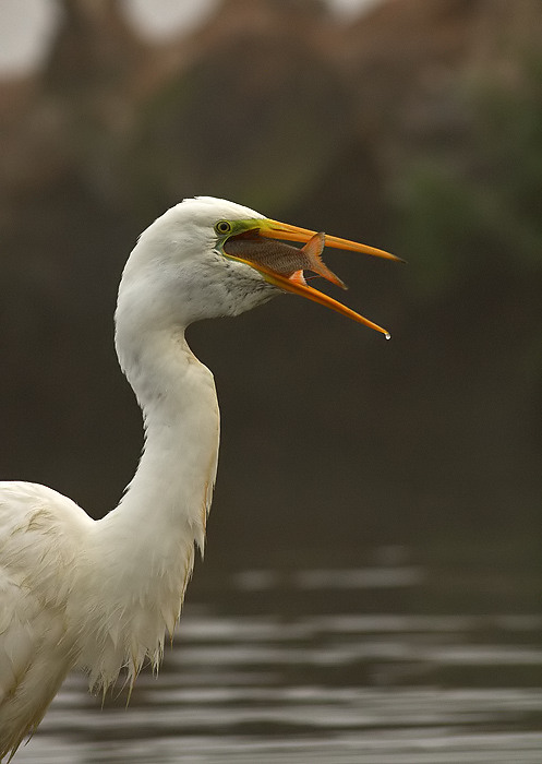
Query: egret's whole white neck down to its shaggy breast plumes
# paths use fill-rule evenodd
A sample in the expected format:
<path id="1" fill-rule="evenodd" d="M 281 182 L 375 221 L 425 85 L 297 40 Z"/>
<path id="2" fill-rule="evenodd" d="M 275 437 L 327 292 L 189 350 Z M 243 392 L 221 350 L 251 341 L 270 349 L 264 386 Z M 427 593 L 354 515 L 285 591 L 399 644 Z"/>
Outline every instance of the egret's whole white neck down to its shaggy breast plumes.
<path id="1" fill-rule="evenodd" d="M 140 337 L 137 354 L 121 363 L 143 409 L 146 438 L 124 497 L 96 523 L 106 584 L 95 602 L 104 617 L 95 622 L 108 626 L 88 634 L 81 662 L 96 667 L 91 682 L 98 685 L 113 681 L 127 661 L 132 681 L 146 656 L 159 664 L 164 634 L 172 634 L 180 614 L 194 542 L 203 551 L 218 457 L 213 374 L 182 331 Z"/>

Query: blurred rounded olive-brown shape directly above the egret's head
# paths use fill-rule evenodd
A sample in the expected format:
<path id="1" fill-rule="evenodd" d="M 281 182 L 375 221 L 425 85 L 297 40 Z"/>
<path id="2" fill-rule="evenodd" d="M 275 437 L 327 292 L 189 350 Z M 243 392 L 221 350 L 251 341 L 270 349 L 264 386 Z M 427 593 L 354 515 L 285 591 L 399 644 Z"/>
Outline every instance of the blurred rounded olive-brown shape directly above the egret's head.
<path id="1" fill-rule="evenodd" d="M 226 40 L 145 102 L 125 151 L 141 208 L 210 192 L 284 207 L 317 184 L 350 121 L 348 100 L 325 62 L 281 45 L 278 57 L 273 38 Z"/>

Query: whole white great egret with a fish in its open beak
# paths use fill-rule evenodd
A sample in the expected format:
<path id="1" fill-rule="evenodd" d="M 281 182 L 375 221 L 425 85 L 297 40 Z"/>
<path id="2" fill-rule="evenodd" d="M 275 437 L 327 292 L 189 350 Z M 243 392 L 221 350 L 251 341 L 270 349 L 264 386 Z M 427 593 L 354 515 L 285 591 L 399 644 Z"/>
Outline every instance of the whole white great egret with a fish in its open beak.
<path id="1" fill-rule="evenodd" d="M 105 692 L 121 669 L 132 687 L 145 659 L 160 664 L 194 545 L 203 550 L 218 455 L 213 374 L 185 327 L 287 290 L 389 336 L 306 285 L 303 270 L 342 285 L 322 262 L 324 243 L 397 260 L 210 196 L 184 200 L 140 237 L 120 283 L 116 348 L 145 447 L 119 505 L 94 521 L 50 488 L 0 482 L 0 759 L 36 729 L 73 667 Z"/>

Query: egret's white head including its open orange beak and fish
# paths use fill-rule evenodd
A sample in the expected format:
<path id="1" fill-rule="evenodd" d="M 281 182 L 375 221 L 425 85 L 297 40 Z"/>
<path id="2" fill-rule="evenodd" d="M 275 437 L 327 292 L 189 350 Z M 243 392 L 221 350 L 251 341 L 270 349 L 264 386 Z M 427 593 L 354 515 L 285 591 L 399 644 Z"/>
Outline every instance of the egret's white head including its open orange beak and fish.
<path id="1" fill-rule="evenodd" d="M 303 248 L 284 241 L 305 242 Z M 213 196 L 185 199 L 140 237 L 124 268 L 117 321 L 135 331 L 188 326 L 237 315 L 292 291 L 387 334 L 340 302 L 306 285 L 305 270 L 344 287 L 321 259 L 324 243 L 398 260 L 365 244 L 264 217 Z"/>

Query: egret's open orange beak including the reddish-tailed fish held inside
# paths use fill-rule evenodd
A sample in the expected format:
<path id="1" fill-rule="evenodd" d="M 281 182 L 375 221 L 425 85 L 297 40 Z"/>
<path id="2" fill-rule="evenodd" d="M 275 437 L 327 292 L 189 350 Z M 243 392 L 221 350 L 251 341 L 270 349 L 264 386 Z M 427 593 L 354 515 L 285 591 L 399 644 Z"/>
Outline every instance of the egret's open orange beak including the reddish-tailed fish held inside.
<path id="1" fill-rule="evenodd" d="M 337 249 L 346 249 L 352 252 L 363 252 L 386 260 L 404 262 L 389 252 L 385 252 L 366 244 L 360 244 L 348 239 L 339 239 L 336 236 L 298 228 L 278 220 L 261 219 L 253 220 L 253 227 L 248 227 L 238 235 L 230 236 L 224 242 L 224 253 L 234 260 L 251 265 L 262 273 L 264 278 L 274 284 L 279 289 L 292 291 L 301 297 L 306 297 L 318 305 L 336 310 L 353 321 L 374 329 L 384 334 L 386 339 L 390 335 L 387 330 L 378 326 L 363 315 L 347 308 L 333 297 L 328 297 L 322 291 L 309 286 L 304 278 L 304 271 L 312 271 L 318 276 L 323 276 L 332 284 L 346 289 L 346 285 L 336 276 L 322 260 L 322 252 L 325 244 Z M 270 239 L 270 241 L 269 241 Z M 284 243 L 287 241 L 302 241 L 304 247 L 297 248 Z"/>

